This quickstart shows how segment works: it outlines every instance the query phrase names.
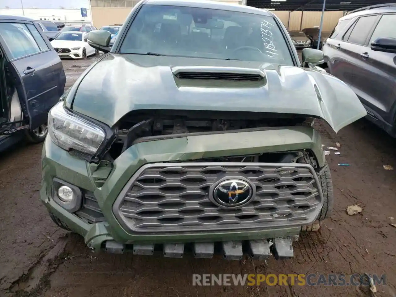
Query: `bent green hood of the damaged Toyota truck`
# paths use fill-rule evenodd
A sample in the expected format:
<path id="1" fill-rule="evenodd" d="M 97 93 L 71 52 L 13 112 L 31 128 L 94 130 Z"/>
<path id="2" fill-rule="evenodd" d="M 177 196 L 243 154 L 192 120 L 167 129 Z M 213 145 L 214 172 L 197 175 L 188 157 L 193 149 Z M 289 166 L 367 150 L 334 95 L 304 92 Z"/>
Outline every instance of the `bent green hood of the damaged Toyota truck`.
<path id="1" fill-rule="evenodd" d="M 261 73 L 258 82 L 177 79 L 180 69 Z M 197 70 L 197 71 L 200 71 Z M 219 110 L 303 114 L 339 129 L 366 116 L 341 80 L 317 69 L 251 61 L 106 55 L 78 78 L 68 107 L 112 127 L 132 110 Z"/>

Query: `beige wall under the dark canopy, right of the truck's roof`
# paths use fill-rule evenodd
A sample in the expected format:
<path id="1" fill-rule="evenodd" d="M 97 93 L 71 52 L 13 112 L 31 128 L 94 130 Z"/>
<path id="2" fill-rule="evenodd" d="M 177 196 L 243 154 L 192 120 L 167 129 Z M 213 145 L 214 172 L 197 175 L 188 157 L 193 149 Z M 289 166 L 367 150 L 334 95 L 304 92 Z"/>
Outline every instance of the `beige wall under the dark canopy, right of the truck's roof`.
<path id="1" fill-rule="evenodd" d="M 287 28 L 289 19 L 289 11 L 272 11 L 276 14 Z M 332 31 L 337 25 L 338 19 L 343 16 L 343 11 L 326 11 L 323 16 L 323 31 Z M 303 23 L 301 24 L 301 11 L 293 11 L 290 13 L 289 30 L 300 30 L 304 28 L 312 28 L 320 25 L 321 11 L 304 11 Z M 301 24 L 301 28 L 300 28 Z"/>

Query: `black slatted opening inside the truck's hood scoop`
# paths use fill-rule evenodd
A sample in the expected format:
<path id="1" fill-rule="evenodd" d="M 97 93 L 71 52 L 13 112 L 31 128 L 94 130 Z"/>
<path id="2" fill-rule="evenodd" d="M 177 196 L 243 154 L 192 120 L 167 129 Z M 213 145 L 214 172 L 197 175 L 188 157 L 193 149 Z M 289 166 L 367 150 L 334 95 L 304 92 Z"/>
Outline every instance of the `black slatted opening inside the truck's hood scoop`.
<path id="1" fill-rule="evenodd" d="M 188 80 L 239 80 L 258 81 L 262 80 L 260 74 L 227 73 L 227 72 L 179 72 L 177 78 Z"/>

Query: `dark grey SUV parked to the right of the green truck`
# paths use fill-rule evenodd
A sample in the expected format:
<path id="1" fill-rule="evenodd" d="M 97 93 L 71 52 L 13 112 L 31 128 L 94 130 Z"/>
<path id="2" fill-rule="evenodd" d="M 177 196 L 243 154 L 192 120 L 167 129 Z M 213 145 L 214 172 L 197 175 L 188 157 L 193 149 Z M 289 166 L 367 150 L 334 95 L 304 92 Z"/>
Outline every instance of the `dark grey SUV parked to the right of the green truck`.
<path id="1" fill-rule="evenodd" d="M 350 86 L 367 118 L 396 137 L 396 4 L 368 6 L 339 19 L 324 45 L 328 72 Z"/>

